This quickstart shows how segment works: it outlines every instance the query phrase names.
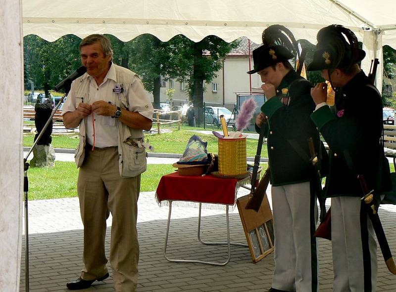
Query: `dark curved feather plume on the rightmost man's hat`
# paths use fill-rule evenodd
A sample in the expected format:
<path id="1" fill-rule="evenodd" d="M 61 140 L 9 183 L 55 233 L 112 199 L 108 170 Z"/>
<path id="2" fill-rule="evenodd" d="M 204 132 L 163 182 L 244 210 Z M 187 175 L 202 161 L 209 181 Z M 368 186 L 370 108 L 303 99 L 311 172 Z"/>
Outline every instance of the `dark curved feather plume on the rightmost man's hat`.
<path id="1" fill-rule="evenodd" d="M 317 46 L 320 48 L 323 44 L 331 44 L 335 51 L 338 52 L 338 58 L 335 60 L 335 67 L 340 63 L 345 63 L 343 66 L 349 67 L 356 63 L 359 59 L 359 43 L 355 34 L 348 28 L 332 24 L 322 28 L 317 36 Z"/>

